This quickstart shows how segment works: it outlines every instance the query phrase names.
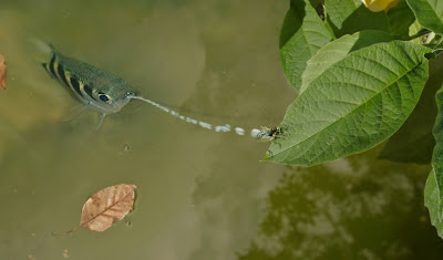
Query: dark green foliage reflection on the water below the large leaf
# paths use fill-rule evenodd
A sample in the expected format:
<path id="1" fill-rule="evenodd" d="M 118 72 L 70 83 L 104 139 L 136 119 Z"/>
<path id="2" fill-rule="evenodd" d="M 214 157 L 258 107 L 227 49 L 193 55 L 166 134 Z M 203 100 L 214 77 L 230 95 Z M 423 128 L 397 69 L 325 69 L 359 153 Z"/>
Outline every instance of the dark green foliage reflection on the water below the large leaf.
<path id="1" fill-rule="evenodd" d="M 443 247 L 423 207 L 429 167 L 374 155 L 288 168 L 267 197 L 260 236 L 238 258 L 437 259 Z"/>

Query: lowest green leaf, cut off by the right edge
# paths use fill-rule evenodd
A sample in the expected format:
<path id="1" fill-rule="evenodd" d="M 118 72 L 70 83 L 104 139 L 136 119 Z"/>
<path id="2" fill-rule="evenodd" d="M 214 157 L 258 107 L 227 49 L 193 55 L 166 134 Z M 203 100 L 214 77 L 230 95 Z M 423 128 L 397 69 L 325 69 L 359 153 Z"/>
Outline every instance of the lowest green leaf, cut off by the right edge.
<path id="1" fill-rule="evenodd" d="M 424 205 L 430 211 L 431 223 L 436 228 L 439 237 L 443 238 L 443 219 L 440 209 L 442 207 L 442 199 L 436 181 L 435 171 L 431 170 L 431 174 L 427 176 L 426 186 L 424 187 Z"/>

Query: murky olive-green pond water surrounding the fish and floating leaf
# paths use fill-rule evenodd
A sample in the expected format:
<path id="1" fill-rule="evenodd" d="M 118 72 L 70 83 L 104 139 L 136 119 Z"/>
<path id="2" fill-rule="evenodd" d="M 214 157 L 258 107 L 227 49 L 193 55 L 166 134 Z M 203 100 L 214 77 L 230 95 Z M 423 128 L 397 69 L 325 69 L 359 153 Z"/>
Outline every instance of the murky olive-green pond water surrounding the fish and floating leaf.
<path id="1" fill-rule="evenodd" d="M 209 132 L 137 101 L 106 118 L 79 107 L 25 43 L 37 37 L 157 102 L 245 128 L 277 124 L 296 97 L 271 1 L 2 1 L 0 259 L 441 259 L 423 206 L 427 165 L 382 146 L 313 168 L 259 163 L 268 144 Z M 408 153 L 408 150 L 404 150 Z M 80 229 L 84 201 L 135 184 L 135 210 Z"/>

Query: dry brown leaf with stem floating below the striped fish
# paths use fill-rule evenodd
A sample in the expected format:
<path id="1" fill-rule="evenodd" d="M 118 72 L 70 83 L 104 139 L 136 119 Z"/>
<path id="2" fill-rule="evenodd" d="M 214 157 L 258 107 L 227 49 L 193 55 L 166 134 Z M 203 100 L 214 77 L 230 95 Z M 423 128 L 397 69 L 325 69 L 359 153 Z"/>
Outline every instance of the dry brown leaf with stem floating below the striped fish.
<path id="1" fill-rule="evenodd" d="M 122 220 L 134 205 L 135 185 L 119 184 L 100 190 L 83 205 L 80 226 L 63 233 L 66 235 L 80 227 L 94 231 L 104 231 L 115 220 Z"/>

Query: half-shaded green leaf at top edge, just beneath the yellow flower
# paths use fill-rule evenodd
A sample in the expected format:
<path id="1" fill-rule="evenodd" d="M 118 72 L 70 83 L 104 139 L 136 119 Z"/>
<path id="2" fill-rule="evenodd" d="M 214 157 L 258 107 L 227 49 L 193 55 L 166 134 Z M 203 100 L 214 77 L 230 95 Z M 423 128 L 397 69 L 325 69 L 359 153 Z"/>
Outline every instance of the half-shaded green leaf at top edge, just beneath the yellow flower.
<path id="1" fill-rule="evenodd" d="M 390 32 L 388 14 L 371 12 L 361 0 L 326 0 L 324 10 L 336 38 L 363 30 Z"/>

